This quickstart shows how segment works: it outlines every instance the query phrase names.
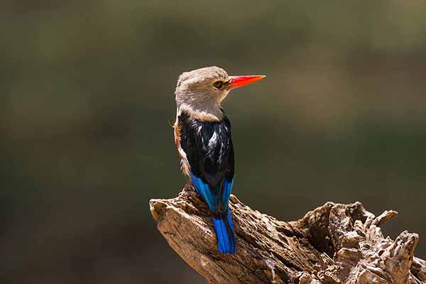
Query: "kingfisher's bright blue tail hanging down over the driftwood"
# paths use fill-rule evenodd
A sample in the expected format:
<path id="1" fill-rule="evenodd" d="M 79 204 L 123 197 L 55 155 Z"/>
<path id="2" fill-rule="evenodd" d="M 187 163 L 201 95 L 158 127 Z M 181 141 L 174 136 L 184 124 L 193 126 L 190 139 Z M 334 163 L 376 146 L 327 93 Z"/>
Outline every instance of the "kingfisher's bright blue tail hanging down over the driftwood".
<path id="1" fill-rule="evenodd" d="M 231 210 L 228 209 L 226 211 L 226 214 L 213 217 L 217 236 L 217 250 L 221 253 L 235 253 L 236 239 Z"/>

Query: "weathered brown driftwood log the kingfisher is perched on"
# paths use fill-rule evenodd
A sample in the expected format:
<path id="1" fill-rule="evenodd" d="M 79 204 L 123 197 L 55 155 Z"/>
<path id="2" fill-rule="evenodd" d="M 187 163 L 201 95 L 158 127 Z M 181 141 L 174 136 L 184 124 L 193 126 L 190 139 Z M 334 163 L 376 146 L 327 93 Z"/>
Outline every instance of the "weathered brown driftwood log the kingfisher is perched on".
<path id="1" fill-rule="evenodd" d="M 426 284 L 426 262 L 413 258 L 418 235 L 395 241 L 359 202 L 327 202 L 295 222 L 261 214 L 231 196 L 234 256 L 217 252 L 212 218 L 190 185 L 176 198 L 151 200 L 168 244 L 209 283 Z"/>

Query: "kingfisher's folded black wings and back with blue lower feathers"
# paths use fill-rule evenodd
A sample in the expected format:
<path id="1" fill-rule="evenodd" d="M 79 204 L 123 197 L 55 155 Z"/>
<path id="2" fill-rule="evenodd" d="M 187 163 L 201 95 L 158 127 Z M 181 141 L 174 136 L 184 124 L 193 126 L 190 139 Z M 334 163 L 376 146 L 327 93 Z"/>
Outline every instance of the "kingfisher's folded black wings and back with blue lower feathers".
<path id="1" fill-rule="evenodd" d="M 192 182 L 213 212 L 226 212 L 234 178 L 229 119 L 200 121 L 182 113 L 178 121 L 180 146 L 187 155 Z M 209 192 L 204 192 L 205 185 Z"/>

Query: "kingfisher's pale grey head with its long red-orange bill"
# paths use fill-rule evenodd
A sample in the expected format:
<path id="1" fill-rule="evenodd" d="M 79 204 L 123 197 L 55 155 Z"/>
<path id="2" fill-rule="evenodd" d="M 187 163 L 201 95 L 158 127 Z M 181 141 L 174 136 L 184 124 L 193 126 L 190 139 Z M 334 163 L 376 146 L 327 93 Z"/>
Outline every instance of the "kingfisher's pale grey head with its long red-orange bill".
<path id="1" fill-rule="evenodd" d="M 221 119 L 223 113 L 220 103 L 229 91 L 263 77 L 229 76 L 225 70 L 216 66 L 184 72 L 179 76 L 175 90 L 178 114 L 185 109 L 201 119 Z"/>

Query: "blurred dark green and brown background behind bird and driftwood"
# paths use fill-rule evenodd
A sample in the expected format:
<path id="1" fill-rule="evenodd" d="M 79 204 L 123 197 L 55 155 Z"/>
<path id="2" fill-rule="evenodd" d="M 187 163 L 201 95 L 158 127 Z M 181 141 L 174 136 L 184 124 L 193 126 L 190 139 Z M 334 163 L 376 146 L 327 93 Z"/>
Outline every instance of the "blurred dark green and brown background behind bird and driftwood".
<path id="1" fill-rule="evenodd" d="M 185 185 L 181 72 L 268 75 L 224 107 L 234 193 L 283 220 L 359 200 L 426 257 L 422 1 L 3 1 L 1 283 L 204 283 L 148 200 Z"/>

